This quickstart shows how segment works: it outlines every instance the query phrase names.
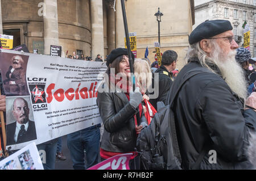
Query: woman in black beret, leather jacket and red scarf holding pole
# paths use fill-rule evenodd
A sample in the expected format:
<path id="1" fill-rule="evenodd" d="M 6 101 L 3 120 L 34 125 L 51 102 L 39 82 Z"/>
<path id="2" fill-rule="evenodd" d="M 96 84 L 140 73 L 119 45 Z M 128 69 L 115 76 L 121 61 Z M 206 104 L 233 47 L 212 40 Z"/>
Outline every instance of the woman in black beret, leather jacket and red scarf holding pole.
<path id="1" fill-rule="evenodd" d="M 123 153 L 133 153 L 130 169 L 139 169 L 139 159 L 135 151 L 137 135 L 147 126 L 142 111 L 142 95 L 139 88 L 130 91 L 130 65 L 127 49 L 112 50 L 106 60 L 108 78 L 98 89 L 97 105 L 104 123 L 100 155 L 102 161 Z M 141 125 L 137 125 L 139 111 Z M 135 162 L 135 164 L 134 164 Z M 136 166 L 135 166 L 136 165 Z"/>

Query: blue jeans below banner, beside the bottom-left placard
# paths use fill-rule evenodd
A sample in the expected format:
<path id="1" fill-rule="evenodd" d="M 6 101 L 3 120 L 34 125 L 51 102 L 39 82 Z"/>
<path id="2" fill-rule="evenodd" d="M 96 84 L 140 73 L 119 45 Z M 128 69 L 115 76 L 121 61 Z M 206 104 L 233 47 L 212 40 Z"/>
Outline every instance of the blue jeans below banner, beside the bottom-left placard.
<path id="1" fill-rule="evenodd" d="M 57 141 L 44 142 L 43 144 L 36 145 L 41 156 L 44 170 L 54 170 L 55 169 L 55 158 L 57 150 Z M 45 152 L 41 152 L 44 150 Z"/>

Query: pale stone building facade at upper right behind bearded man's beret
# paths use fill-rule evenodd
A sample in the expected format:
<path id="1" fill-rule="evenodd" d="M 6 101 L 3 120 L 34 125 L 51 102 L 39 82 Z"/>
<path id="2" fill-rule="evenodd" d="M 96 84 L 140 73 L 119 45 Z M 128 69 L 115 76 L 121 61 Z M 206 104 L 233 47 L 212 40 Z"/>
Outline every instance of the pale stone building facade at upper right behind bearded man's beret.
<path id="1" fill-rule="evenodd" d="M 250 51 L 256 57 L 255 0 L 195 0 L 195 28 L 205 20 L 226 19 L 233 26 L 234 39 L 243 46 L 243 23 L 250 26 Z"/>

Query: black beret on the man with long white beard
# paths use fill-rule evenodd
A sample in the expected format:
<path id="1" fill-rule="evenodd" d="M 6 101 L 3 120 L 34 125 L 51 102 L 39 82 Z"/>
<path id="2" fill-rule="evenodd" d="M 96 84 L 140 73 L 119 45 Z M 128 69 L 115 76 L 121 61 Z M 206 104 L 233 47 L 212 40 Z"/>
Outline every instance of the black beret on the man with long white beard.
<path id="1" fill-rule="evenodd" d="M 228 20 L 206 20 L 199 24 L 188 37 L 189 44 L 197 43 L 203 39 L 208 39 L 225 31 L 233 30 Z"/>

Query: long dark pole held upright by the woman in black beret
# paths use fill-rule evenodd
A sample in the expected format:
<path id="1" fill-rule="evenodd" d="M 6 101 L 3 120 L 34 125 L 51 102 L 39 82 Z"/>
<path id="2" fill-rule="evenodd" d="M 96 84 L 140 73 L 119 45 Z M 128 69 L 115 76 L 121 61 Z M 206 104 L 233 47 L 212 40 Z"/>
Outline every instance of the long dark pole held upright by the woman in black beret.
<path id="1" fill-rule="evenodd" d="M 127 26 L 126 11 L 125 11 L 125 0 L 121 0 L 121 6 L 122 6 L 122 13 L 123 13 L 123 26 L 125 27 L 125 38 L 126 38 L 126 44 L 127 44 L 127 50 L 128 50 L 131 82 L 133 84 L 133 91 L 134 91 L 135 90 L 135 77 L 134 77 L 134 68 L 133 68 L 134 58 L 131 55 L 130 38 L 129 38 L 129 31 L 128 31 L 128 26 Z M 140 125 L 141 117 L 139 115 L 139 111 L 136 114 L 136 118 L 137 118 L 137 124 Z"/>

